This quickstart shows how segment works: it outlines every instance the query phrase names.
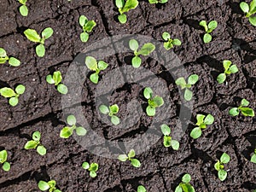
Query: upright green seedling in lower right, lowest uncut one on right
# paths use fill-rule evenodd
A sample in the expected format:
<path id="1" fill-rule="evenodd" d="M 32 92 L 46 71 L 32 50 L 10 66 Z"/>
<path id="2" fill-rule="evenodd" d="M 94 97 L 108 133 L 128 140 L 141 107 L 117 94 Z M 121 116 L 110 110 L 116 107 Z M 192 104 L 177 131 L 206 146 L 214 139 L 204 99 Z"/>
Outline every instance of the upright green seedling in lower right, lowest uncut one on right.
<path id="1" fill-rule="evenodd" d="M 220 160 L 214 164 L 214 168 L 218 171 L 218 178 L 220 181 L 224 181 L 228 175 L 228 173 L 224 170 L 224 164 L 230 162 L 230 155 L 223 153 L 220 157 Z"/>

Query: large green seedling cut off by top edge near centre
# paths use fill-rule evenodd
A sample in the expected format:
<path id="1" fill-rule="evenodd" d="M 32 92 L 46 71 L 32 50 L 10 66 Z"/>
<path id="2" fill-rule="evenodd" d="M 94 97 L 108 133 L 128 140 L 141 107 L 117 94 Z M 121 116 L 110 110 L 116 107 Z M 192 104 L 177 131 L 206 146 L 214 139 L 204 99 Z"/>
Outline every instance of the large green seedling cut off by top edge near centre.
<path id="1" fill-rule="evenodd" d="M 127 21 L 127 16 L 125 15 L 126 12 L 130 11 L 131 9 L 136 9 L 138 5 L 137 0 L 115 0 L 115 5 L 119 9 L 119 22 L 124 24 Z"/>

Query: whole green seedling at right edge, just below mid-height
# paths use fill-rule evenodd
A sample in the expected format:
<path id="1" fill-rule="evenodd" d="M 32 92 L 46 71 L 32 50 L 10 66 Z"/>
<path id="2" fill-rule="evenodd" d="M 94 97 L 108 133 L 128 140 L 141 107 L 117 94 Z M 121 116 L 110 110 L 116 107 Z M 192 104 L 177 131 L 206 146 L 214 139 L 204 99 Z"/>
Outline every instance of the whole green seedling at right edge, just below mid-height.
<path id="1" fill-rule="evenodd" d="M 246 99 L 241 100 L 241 105 L 238 108 L 231 108 L 230 109 L 230 115 L 231 116 L 237 116 L 240 111 L 244 116 L 250 116 L 254 117 L 254 111 L 252 108 L 244 108 L 247 107 L 250 104 Z"/>

